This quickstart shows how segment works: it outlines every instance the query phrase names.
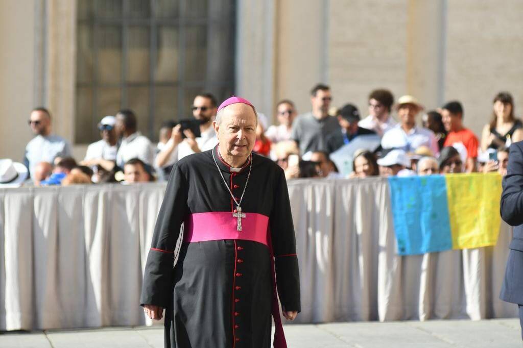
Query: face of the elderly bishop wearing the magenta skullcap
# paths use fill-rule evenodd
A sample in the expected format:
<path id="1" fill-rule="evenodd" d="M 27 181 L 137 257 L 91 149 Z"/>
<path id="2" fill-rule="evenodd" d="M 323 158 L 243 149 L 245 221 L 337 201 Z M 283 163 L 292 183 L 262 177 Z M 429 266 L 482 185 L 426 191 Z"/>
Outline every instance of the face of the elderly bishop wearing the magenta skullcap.
<path id="1" fill-rule="evenodd" d="M 231 157 L 247 157 L 256 141 L 257 122 L 253 108 L 235 103 L 222 110 L 220 124 L 214 122 L 220 149 L 226 149 Z"/>

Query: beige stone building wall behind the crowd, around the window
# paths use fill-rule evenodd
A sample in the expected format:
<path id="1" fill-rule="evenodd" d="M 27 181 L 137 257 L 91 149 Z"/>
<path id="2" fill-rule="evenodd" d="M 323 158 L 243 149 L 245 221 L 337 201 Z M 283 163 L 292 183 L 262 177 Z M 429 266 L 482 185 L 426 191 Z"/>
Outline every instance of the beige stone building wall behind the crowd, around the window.
<path id="1" fill-rule="evenodd" d="M 75 8 L 70 0 L 0 2 L 0 158 L 21 159 L 31 108 L 47 106 L 54 130 L 74 130 Z M 373 88 L 416 96 L 427 109 L 459 99 L 477 135 L 497 91 L 523 115 L 523 2 L 506 0 L 240 0 L 236 93 L 272 118 L 289 98 L 332 86 L 334 106 L 367 113 Z M 85 146 L 75 146 L 81 158 Z"/>

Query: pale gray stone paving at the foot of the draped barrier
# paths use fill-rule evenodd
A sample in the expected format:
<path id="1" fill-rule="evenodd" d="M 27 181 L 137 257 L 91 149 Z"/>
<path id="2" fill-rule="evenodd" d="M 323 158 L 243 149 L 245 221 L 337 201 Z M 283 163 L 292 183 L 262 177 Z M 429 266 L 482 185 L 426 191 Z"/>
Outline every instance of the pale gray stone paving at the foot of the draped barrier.
<path id="1" fill-rule="evenodd" d="M 522 347 L 519 320 L 351 322 L 285 327 L 289 347 Z M 4 332 L 0 347 L 163 347 L 162 327 Z"/>

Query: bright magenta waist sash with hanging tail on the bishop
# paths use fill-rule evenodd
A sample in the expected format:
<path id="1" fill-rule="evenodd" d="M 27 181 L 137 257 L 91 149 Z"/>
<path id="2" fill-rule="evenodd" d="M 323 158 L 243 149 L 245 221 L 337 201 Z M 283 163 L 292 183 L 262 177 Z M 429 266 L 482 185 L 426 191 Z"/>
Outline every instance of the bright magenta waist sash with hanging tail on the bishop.
<path id="1" fill-rule="evenodd" d="M 237 219 L 232 212 L 212 212 L 190 214 L 184 224 L 184 242 L 201 242 L 210 240 L 240 239 L 262 243 L 269 248 L 272 279 L 272 318 L 275 323 L 274 348 L 287 348 L 283 326 L 281 324 L 280 306 L 276 288 L 274 252 L 269 233 L 269 217 L 257 213 L 244 213 L 242 230 L 237 230 Z"/>

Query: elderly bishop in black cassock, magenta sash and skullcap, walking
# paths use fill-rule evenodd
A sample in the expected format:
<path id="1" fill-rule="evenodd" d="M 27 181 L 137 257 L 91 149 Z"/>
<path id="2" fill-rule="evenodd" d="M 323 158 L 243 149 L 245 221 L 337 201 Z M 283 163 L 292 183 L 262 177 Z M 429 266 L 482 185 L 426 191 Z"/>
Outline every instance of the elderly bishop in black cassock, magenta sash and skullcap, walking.
<path id="1" fill-rule="evenodd" d="M 214 122 L 219 144 L 171 172 L 140 299 L 153 319 L 165 308 L 166 347 L 266 348 L 271 314 L 274 346 L 286 347 L 276 296 L 293 320 L 300 311 L 294 227 L 283 171 L 252 154 L 256 123 L 250 102 L 229 98 Z"/>

